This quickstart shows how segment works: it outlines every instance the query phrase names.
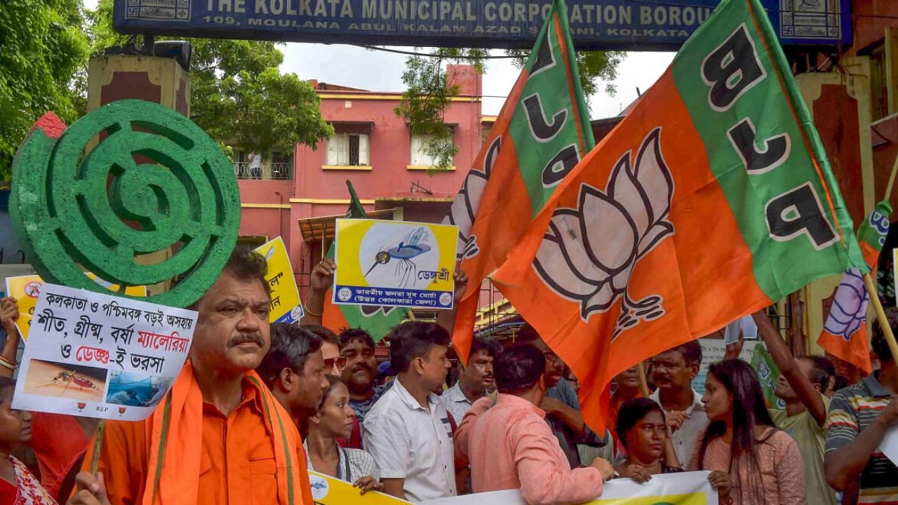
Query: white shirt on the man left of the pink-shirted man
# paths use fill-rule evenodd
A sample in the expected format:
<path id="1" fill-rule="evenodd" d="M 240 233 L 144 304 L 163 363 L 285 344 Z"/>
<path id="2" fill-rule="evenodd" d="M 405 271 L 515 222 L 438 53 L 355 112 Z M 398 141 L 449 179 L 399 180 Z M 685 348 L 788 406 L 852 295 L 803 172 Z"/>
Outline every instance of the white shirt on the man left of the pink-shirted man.
<path id="1" fill-rule="evenodd" d="M 452 426 L 440 397 L 427 395 L 425 409 L 399 377 L 365 415 L 362 438 L 381 479 L 405 479 L 409 501 L 455 496 Z"/>

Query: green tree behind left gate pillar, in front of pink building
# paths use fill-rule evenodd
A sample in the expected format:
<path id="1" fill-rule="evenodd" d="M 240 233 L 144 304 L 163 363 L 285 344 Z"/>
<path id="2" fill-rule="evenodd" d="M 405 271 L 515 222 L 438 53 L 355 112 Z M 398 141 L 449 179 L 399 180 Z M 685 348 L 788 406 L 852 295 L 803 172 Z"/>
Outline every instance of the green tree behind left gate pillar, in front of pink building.
<path id="1" fill-rule="evenodd" d="M 112 28 L 112 0 L 101 0 L 89 17 L 94 51 L 128 40 Z M 315 148 L 333 134 L 312 84 L 280 73 L 284 55 L 275 43 L 187 40 L 193 46 L 191 119 L 219 144 L 289 154 L 296 144 Z"/>

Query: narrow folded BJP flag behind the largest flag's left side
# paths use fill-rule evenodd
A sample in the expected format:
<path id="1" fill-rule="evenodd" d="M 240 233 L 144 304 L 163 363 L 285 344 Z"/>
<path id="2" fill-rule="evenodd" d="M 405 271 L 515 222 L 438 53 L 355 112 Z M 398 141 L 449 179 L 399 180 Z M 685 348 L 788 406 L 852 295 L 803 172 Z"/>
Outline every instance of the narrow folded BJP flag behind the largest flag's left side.
<path id="1" fill-rule="evenodd" d="M 458 226 L 468 290 L 456 300 L 453 344 L 468 359 L 483 279 L 505 261 L 559 182 L 594 146 L 568 9 L 555 0 L 530 59 L 474 160 L 444 223 Z"/>

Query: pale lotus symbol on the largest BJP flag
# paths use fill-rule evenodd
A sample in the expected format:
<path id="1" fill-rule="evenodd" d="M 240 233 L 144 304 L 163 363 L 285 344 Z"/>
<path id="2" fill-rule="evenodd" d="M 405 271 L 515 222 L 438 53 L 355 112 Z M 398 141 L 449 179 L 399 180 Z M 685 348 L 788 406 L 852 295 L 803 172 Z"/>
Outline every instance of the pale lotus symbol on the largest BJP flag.
<path id="1" fill-rule="evenodd" d="M 614 337 L 640 321 L 665 315 L 659 295 L 633 300 L 630 276 L 640 258 L 674 234 L 667 220 L 674 178 L 661 154 L 661 128 L 642 141 L 631 163 L 621 156 L 604 192 L 581 184 L 578 208 L 558 208 L 550 221 L 533 268 L 559 295 L 580 302 L 588 321 L 623 297 Z"/>

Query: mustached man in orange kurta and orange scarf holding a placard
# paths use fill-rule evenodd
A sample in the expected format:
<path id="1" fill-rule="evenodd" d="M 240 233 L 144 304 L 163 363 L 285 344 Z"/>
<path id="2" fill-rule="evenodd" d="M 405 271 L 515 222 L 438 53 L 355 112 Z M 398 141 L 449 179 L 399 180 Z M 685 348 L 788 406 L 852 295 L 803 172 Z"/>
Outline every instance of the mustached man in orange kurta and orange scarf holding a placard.
<path id="1" fill-rule="evenodd" d="M 260 255 L 234 251 L 197 303 L 172 392 L 145 421 L 106 421 L 102 478 L 79 474 L 73 503 L 313 505 L 299 432 L 252 371 L 270 343 L 265 270 Z"/>

